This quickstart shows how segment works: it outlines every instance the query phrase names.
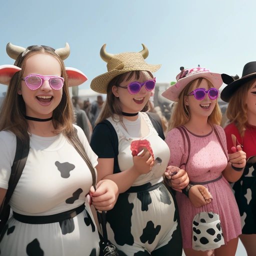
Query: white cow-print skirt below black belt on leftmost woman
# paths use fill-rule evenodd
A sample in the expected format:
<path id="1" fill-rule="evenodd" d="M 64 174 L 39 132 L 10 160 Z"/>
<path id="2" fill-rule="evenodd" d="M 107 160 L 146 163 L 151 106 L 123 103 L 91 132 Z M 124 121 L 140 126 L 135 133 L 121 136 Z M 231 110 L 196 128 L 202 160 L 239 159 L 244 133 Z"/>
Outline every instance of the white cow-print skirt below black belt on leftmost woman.
<path id="1" fill-rule="evenodd" d="M 11 217 L 0 241 L 2 256 L 96 256 L 99 237 L 89 206 L 60 222 L 28 224 Z"/>

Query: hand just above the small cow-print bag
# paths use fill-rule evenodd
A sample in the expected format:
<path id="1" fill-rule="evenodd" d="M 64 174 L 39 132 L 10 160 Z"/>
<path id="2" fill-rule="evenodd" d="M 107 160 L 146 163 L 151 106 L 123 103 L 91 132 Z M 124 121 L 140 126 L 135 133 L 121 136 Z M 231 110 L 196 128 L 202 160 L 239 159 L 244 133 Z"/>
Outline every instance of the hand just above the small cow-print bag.
<path id="1" fill-rule="evenodd" d="M 193 185 L 188 191 L 188 198 L 195 208 L 211 202 L 212 196 L 203 185 Z"/>

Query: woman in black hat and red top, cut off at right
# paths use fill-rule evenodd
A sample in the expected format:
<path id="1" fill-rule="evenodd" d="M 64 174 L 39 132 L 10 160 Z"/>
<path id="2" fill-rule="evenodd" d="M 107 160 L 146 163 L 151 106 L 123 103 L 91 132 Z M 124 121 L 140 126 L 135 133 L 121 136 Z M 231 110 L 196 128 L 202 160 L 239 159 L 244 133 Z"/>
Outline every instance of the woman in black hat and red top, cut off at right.
<path id="1" fill-rule="evenodd" d="M 230 123 L 224 128 L 227 149 L 232 152 L 232 146 L 241 144 L 246 152 L 244 171 L 233 190 L 241 216 L 239 238 L 247 255 L 252 256 L 256 251 L 256 61 L 244 65 L 241 78 L 233 80 L 225 74 L 222 78 L 228 84 L 220 94 L 228 102 Z"/>

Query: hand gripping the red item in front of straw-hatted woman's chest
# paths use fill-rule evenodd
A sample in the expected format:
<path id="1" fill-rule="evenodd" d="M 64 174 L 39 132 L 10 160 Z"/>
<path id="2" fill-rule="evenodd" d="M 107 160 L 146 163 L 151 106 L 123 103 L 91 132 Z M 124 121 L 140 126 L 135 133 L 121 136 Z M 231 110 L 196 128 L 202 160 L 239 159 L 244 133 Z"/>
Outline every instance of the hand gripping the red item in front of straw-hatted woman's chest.
<path id="1" fill-rule="evenodd" d="M 139 174 L 148 173 L 152 169 L 153 164 L 154 159 L 145 147 L 141 153 L 133 156 L 133 166 Z"/>

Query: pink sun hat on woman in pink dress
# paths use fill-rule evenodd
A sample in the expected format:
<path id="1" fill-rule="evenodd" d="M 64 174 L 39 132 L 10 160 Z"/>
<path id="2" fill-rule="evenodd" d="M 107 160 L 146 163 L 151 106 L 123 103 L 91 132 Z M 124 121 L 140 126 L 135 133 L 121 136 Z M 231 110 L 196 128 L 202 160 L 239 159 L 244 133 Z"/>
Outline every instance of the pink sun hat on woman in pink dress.
<path id="1" fill-rule="evenodd" d="M 212 73 L 204 67 L 187 68 L 180 67 L 181 72 L 177 74 L 177 82 L 162 92 L 162 96 L 172 101 L 178 101 L 182 89 L 192 80 L 203 77 L 209 80 L 217 89 L 222 85 L 221 74 Z"/>

